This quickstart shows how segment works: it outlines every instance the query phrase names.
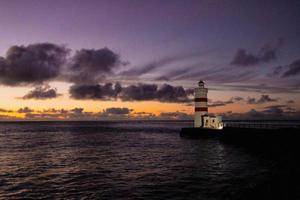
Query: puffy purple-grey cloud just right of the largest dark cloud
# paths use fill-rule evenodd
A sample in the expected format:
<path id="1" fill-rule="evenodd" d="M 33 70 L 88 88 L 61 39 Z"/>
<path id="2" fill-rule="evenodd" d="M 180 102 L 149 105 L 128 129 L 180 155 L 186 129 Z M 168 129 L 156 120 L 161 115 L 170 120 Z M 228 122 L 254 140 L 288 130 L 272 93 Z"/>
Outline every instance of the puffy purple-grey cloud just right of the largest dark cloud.
<path id="1" fill-rule="evenodd" d="M 108 48 L 82 49 L 72 57 L 67 77 L 74 83 L 95 83 L 120 64 L 120 56 Z"/>

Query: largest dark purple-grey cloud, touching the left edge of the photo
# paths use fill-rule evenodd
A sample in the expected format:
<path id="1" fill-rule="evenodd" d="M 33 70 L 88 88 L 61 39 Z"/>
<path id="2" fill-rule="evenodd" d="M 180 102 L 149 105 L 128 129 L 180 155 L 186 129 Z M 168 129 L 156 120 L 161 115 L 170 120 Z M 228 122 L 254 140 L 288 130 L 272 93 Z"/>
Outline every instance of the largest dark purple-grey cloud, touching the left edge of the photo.
<path id="1" fill-rule="evenodd" d="M 0 83 L 4 85 L 40 84 L 56 78 L 69 50 L 50 43 L 12 46 L 0 57 Z"/>

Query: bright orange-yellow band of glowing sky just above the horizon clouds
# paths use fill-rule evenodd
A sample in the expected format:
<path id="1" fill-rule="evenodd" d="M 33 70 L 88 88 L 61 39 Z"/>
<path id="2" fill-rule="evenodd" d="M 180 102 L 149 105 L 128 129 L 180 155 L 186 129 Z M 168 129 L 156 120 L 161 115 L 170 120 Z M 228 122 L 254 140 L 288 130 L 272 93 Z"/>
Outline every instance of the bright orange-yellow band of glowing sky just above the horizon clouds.
<path id="1" fill-rule="evenodd" d="M 102 100 L 74 100 L 69 98 L 68 88 L 70 84 L 65 83 L 52 83 L 52 87 L 57 88 L 58 92 L 63 94 L 55 99 L 47 100 L 23 100 L 19 97 L 24 96 L 31 87 L 7 87 L 0 86 L 0 109 L 8 110 L 11 112 L 0 112 L 0 116 L 5 119 L 5 116 L 16 117 L 19 119 L 25 118 L 24 113 L 19 113 L 18 109 L 28 107 L 34 110 L 33 114 L 44 113 L 47 109 L 57 109 L 57 110 L 72 110 L 74 108 L 83 108 L 84 112 L 100 113 L 107 108 L 128 108 L 132 109 L 131 115 L 138 115 L 136 113 L 147 113 L 155 116 L 159 116 L 163 112 L 182 112 L 189 115 L 194 114 L 194 104 L 193 102 L 189 104 L 185 103 L 163 103 L 158 101 L 102 101 Z M 237 92 L 237 91 L 209 91 L 208 98 L 213 101 L 228 101 L 231 97 L 240 96 L 245 100 L 250 97 L 255 97 L 258 99 L 261 94 L 248 93 L 248 92 Z M 300 108 L 297 102 L 300 102 L 300 97 L 298 94 L 291 94 L 289 96 L 284 96 L 283 94 L 272 95 L 272 98 L 280 99 L 281 102 L 275 102 L 274 104 L 285 104 L 287 100 L 293 99 L 296 103 L 293 105 L 296 109 Z M 235 102 L 232 104 L 227 104 L 225 106 L 219 107 L 209 107 L 208 111 L 212 114 L 217 113 L 245 113 L 249 112 L 251 109 L 257 111 L 264 110 L 264 108 L 269 104 L 247 104 L 245 101 Z"/>

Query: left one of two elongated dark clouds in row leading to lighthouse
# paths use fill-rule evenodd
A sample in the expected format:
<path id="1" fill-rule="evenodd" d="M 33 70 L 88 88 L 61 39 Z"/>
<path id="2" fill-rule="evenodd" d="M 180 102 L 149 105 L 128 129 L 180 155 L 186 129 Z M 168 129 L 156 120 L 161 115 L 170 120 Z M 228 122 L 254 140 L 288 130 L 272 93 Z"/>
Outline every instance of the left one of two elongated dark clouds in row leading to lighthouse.
<path id="1" fill-rule="evenodd" d="M 69 93 L 73 99 L 112 100 L 116 99 L 121 90 L 119 83 L 116 83 L 114 87 L 112 83 L 106 83 L 104 85 L 73 85 Z"/>

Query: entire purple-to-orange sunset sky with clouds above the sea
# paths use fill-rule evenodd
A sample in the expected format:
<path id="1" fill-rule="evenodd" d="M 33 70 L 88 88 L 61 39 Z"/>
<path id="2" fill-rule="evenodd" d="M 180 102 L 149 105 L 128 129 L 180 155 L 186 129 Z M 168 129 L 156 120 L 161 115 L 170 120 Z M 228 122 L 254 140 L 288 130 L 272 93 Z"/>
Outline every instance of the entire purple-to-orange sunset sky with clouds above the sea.
<path id="1" fill-rule="evenodd" d="M 300 119 L 300 1 L 2 0 L 0 120 Z"/>

